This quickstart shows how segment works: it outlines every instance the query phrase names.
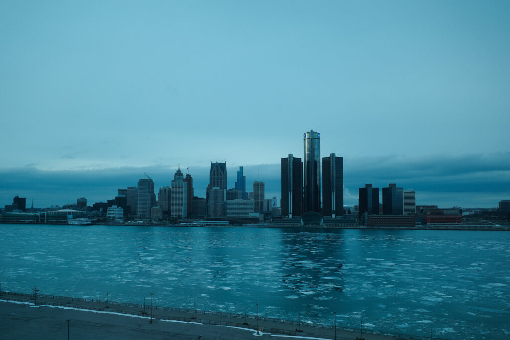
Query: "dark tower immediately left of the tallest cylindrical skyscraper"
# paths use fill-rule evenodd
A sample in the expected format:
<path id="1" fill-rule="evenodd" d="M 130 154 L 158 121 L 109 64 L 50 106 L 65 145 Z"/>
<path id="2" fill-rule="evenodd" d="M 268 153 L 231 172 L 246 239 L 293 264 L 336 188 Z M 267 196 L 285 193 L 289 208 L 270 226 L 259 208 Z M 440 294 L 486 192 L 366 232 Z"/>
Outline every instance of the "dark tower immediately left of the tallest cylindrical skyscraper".
<path id="1" fill-rule="evenodd" d="M 301 216 L 303 208 L 303 163 L 291 153 L 282 158 L 282 216 Z"/>

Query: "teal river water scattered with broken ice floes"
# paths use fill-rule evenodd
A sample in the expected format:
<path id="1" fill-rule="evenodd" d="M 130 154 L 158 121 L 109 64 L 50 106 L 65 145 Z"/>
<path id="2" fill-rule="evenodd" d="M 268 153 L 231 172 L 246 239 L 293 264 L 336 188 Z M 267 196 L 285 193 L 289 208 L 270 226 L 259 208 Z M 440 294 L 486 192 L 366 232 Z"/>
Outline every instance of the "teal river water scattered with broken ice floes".
<path id="1" fill-rule="evenodd" d="M 510 232 L 0 224 L 3 290 L 510 337 Z"/>

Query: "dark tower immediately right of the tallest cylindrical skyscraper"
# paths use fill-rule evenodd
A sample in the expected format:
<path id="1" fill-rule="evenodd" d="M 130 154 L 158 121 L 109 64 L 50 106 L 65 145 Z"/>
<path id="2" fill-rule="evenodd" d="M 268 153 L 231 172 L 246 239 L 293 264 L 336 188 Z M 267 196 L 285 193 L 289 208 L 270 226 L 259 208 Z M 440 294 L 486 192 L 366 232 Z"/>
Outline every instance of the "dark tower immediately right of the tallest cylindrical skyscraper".
<path id="1" fill-rule="evenodd" d="M 322 215 L 344 215 L 343 159 L 334 153 L 322 159 Z"/>

